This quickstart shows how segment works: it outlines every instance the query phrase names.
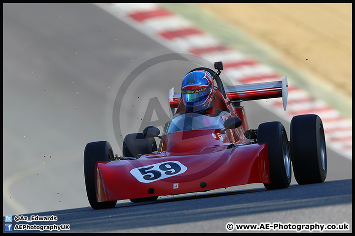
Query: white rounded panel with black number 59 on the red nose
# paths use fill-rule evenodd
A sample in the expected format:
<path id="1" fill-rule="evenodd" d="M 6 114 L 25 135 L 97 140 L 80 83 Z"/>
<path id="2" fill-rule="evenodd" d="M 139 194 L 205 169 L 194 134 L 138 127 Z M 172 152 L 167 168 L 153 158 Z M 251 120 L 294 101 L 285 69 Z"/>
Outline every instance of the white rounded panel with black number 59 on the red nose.
<path id="1" fill-rule="evenodd" d="M 156 180 L 180 175 L 186 170 L 187 167 L 178 161 L 166 161 L 132 169 L 131 174 L 142 183 L 150 183 Z"/>

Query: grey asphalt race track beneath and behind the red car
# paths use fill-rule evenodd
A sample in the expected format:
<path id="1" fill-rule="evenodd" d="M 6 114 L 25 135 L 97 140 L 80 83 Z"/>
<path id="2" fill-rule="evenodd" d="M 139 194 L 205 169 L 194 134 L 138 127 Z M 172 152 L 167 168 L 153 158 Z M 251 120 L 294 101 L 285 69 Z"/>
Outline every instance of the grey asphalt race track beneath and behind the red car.
<path id="1" fill-rule="evenodd" d="M 352 162 L 329 149 L 322 184 L 292 180 L 284 190 L 252 185 L 88 207 L 85 145 L 107 140 L 120 154 L 112 121 L 119 89 L 143 62 L 171 53 L 94 4 L 4 4 L 3 215 L 55 215 L 70 232 L 228 232 L 229 222 L 345 222 L 352 232 Z M 139 130 L 154 98 L 166 108 L 167 91 L 199 63 L 167 61 L 138 75 L 122 101 L 122 134 Z M 244 106 L 250 128 L 280 120 L 289 130 L 258 103 Z"/>

